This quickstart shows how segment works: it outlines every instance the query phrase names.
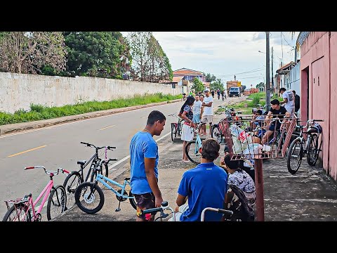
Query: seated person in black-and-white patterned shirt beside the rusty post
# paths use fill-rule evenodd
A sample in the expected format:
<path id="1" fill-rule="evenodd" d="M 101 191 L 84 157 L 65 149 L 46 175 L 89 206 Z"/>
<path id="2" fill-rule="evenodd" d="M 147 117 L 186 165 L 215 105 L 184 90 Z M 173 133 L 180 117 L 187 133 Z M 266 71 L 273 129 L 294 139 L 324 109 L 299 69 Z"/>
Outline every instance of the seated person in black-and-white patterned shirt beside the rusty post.
<path id="1" fill-rule="evenodd" d="M 223 165 L 229 173 L 228 184 L 231 183 L 239 187 L 244 192 L 244 195 L 246 195 L 247 200 L 249 200 L 249 204 L 251 206 L 255 205 L 255 183 L 246 171 L 239 168 L 239 160 L 231 160 L 230 155 L 226 155 L 221 159 L 220 164 Z"/>

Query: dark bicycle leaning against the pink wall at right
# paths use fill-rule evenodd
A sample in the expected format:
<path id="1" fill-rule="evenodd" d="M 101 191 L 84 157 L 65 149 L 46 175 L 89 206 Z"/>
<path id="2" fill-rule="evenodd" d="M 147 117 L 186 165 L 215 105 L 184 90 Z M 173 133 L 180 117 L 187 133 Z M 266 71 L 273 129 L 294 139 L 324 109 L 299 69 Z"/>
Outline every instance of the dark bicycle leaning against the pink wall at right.
<path id="1" fill-rule="evenodd" d="M 322 151 L 322 139 L 318 147 L 322 126 L 315 122 L 324 122 L 324 119 L 309 119 L 305 125 L 297 126 L 300 129 L 300 136 L 291 142 L 286 159 L 286 167 L 291 174 L 296 174 L 304 155 L 307 155 L 307 162 L 310 166 L 315 166 L 318 160 L 319 152 Z M 305 128 L 308 130 L 303 131 Z M 303 134 L 307 134 L 307 138 Z"/>

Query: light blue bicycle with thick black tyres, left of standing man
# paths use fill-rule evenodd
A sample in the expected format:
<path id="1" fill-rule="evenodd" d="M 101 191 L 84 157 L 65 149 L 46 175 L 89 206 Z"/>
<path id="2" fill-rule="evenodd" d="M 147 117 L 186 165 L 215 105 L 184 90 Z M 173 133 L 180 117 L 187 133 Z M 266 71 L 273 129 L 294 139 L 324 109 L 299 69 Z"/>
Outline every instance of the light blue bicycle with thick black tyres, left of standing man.
<path id="1" fill-rule="evenodd" d="M 102 167 L 103 164 L 109 164 L 111 161 L 117 161 L 117 159 L 101 160 L 93 170 L 98 172 L 100 171 L 100 167 Z M 119 205 L 117 209 L 115 209 L 115 212 L 119 212 L 121 210 L 121 202 L 124 202 L 127 199 L 130 201 L 133 209 L 137 209 L 136 200 L 133 196 L 133 193 L 131 192 L 131 188 L 126 190 L 126 186 L 131 186 L 130 178 L 125 178 L 124 183 L 120 184 L 117 183 L 117 181 L 109 179 L 107 176 L 103 176 L 98 172 L 95 181 L 81 183 L 75 190 L 75 202 L 79 209 L 81 209 L 83 212 L 86 212 L 87 214 L 95 214 L 96 212 L 99 212 L 100 209 L 102 209 L 105 202 L 105 197 L 102 188 L 98 186 L 98 182 L 102 183 L 103 186 L 105 186 L 108 190 L 111 190 L 112 193 L 116 195 L 117 200 L 119 200 Z M 107 183 L 112 183 L 112 185 L 120 189 L 115 190 Z"/>

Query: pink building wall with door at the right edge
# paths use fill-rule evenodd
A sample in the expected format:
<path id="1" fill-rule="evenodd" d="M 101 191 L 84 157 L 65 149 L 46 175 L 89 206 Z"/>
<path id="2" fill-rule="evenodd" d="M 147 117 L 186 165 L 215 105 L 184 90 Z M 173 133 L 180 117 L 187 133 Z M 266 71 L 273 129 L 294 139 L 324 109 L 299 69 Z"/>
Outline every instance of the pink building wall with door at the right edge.
<path id="1" fill-rule="evenodd" d="M 311 32 L 300 47 L 301 119 L 324 119 L 323 168 L 337 180 L 337 33 Z M 308 117 L 307 117 L 308 115 Z"/>

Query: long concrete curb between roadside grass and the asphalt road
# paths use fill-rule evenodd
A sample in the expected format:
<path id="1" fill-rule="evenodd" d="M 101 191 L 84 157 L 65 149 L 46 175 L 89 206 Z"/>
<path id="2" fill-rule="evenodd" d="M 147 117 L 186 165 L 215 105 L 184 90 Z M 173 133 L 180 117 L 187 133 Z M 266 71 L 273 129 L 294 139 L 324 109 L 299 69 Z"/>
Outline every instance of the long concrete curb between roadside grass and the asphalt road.
<path id="1" fill-rule="evenodd" d="M 34 122 L 6 124 L 6 125 L 0 126 L 0 136 L 4 134 L 11 134 L 11 133 L 26 131 L 26 130 L 31 130 L 31 129 L 39 129 L 42 127 L 53 126 L 56 124 L 63 124 L 63 123 L 74 122 L 74 121 L 82 120 L 82 119 L 90 119 L 93 117 L 112 115 L 118 112 L 127 112 L 130 110 L 149 108 L 149 107 L 156 106 L 156 105 L 165 105 L 167 103 L 176 103 L 180 101 L 181 99 L 176 99 L 176 100 L 169 100 L 169 101 L 164 101 L 164 102 L 159 102 L 159 103 L 150 103 L 147 105 L 135 105 L 135 106 L 127 107 L 127 108 L 116 108 L 116 109 L 110 109 L 110 110 L 101 110 L 97 112 L 87 112 L 81 115 L 65 116 L 65 117 L 59 117 L 59 118 L 54 118 L 54 119 L 44 119 L 44 120 L 39 120 L 39 121 L 34 121 Z"/>

